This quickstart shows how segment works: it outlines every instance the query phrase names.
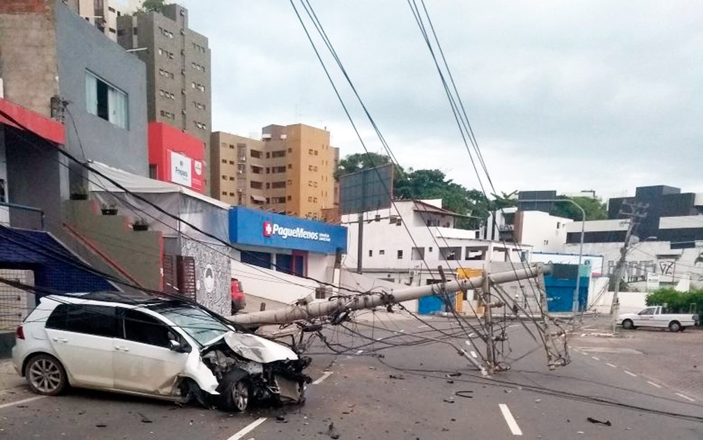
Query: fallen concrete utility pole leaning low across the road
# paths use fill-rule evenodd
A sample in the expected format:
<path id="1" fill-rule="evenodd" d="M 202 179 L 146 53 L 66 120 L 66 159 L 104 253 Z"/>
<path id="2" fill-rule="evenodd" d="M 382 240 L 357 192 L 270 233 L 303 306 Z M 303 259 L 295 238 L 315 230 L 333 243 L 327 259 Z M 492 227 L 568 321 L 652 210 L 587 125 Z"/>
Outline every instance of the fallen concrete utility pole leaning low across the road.
<path id="1" fill-rule="evenodd" d="M 489 274 L 487 277 L 490 284 L 510 283 L 511 281 L 535 278 L 544 273 L 550 273 L 550 266 L 537 266 L 515 271 L 499 272 Z M 391 292 L 355 294 L 339 297 L 332 301 L 313 302 L 310 304 L 293 304 L 281 309 L 259 311 L 254 313 L 239 313 L 231 318 L 234 323 L 245 327 L 266 324 L 285 324 L 293 321 L 308 320 L 321 316 L 330 316 L 344 310 L 373 309 L 378 306 L 388 304 L 398 304 L 427 297 L 428 295 L 441 295 L 441 292 L 452 293 L 465 289 L 477 289 L 484 286 L 484 276 L 465 278 L 462 280 L 450 281 L 444 285 L 433 284 L 419 287 L 409 287 L 407 289 L 393 290 Z"/>

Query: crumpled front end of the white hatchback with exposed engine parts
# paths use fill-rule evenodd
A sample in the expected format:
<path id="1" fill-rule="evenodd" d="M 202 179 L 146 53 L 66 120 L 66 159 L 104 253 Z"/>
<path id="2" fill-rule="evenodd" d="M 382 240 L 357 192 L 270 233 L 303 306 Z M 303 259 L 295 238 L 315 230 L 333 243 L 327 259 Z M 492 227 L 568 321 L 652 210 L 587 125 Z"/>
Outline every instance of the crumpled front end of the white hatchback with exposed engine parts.
<path id="1" fill-rule="evenodd" d="M 217 381 L 214 392 L 203 391 L 222 409 L 243 411 L 252 400 L 272 404 L 305 401 L 311 379 L 303 370 L 310 365 L 310 358 L 300 358 L 283 344 L 227 332 L 204 347 L 200 358 Z"/>

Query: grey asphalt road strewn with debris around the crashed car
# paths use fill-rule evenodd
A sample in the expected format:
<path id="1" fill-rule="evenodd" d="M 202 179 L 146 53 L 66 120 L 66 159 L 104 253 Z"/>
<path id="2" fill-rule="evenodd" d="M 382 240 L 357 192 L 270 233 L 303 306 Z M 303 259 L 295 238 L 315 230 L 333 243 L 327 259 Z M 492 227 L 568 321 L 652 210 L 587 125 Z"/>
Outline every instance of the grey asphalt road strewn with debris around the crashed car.
<path id="1" fill-rule="evenodd" d="M 686 417 L 703 417 L 697 394 L 669 387 L 666 371 L 641 375 L 609 357 L 617 352 L 589 350 L 597 339 L 574 338 L 572 363 L 550 372 L 539 344 L 511 324 L 512 350 L 503 348 L 512 369 L 486 379 L 456 349 L 428 341 L 441 333 L 423 323 L 371 323 L 350 326 L 361 335 L 325 330 L 343 354 L 310 348 L 316 383 L 304 406 L 242 415 L 81 390 L 37 398 L 17 387 L 0 394 L 0 439 L 703 439 L 701 419 Z M 429 323 L 470 350 L 471 330 Z"/>

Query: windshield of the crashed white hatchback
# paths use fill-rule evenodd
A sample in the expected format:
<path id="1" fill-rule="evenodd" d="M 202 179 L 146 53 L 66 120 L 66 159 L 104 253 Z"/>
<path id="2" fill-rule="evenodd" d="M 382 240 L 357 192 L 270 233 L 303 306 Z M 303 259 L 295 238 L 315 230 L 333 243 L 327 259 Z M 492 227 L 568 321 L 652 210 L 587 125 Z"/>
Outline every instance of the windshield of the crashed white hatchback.
<path id="1" fill-rule="evenodd" d="M 216 339 L 231 331 L 224 323 L 218 321 L 209 313 L 195 307 L 179 306 L 154 306 L 153 311 L 157 311 L 174 324 L 188 333 L 200 346 L 206 345 L 212 339 Z"/>

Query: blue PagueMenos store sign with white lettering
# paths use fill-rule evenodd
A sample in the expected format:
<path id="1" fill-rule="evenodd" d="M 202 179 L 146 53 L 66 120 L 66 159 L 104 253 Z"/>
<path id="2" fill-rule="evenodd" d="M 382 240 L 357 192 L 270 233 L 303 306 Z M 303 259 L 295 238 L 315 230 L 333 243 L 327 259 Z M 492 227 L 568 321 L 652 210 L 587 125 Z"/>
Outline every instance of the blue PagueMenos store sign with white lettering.
<path id="1" fill-rule="evenodd" d="M 229 211 L 233 244 L 305 250 L 322 254 L 347 252 L 347 228 L 321 221 L 272 214 L 245 207 Z"/>

